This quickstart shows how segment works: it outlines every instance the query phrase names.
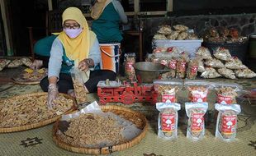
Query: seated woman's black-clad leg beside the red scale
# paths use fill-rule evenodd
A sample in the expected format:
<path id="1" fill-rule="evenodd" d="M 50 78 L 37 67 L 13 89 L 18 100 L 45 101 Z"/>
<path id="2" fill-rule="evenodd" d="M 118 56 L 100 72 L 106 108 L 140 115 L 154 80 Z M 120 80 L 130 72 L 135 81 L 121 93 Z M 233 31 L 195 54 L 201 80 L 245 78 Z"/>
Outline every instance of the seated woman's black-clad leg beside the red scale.
<path id="1" fill-rule="evenodd" d="M 97 83 L 100 80 L 116 80 L 116 73 L 110 70 L 91 71 L 90 79 L 84 83 L 89 93 L 97 92 Z"/>

